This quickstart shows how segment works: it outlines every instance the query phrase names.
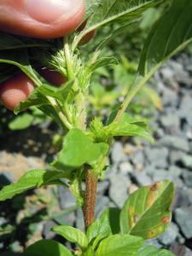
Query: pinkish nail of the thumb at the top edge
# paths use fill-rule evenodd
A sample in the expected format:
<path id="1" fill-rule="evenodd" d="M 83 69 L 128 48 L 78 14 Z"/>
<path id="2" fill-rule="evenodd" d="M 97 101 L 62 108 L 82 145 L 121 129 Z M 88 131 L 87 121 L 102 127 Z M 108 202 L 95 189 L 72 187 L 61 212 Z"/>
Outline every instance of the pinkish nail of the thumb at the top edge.
<path id="1" fill-rule="evenodd" d="M 60 18 L 68 20 L 82 8 L 82 0 L 26 0 L 26 12 L 45 24 Z"/>

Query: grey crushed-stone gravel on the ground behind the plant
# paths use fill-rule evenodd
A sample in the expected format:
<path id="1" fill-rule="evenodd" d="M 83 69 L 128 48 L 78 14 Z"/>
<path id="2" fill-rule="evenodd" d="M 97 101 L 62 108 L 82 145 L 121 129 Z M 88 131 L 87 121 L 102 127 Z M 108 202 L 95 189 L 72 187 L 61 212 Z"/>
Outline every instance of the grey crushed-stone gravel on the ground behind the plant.
<path id="1" fill-rule="evenodd" d="M 156 73 L 153 83 L 164 106 L 161 112 L 154 113 L 151 123 L 155 143 L 144 140 L 141 143 L 136 140 L 113 143 L 109 159 L 113 167 L 108 168 L 106 179 L 99 183 L 96 214 L 103 207 L 122 207 L 127 195 L 140 186 L 170 179 L 176 187 L 172 224 L 164 235 L 149 242 L 157 247 L 171 248 L 178 256 L 192 256 L 192 61 L 189 56 L 182 54 L 168 61 Z M 13 160 L 8 158 L 6 164 L 5 154 L 0 151 L 0 182 L 3 178 L 12 182 L 15 178 L 8 166 Z M 15 156 L 19 160 L 21 157 Z M 27 156 L 25 168 L 27 165 L 32 168 L 44 164 L 38 157 Z M 72 195 L 65 188 L 59 188 L 58 195 L 61 210 L 75 206 Z M 58 223 L 58 216 L 56 220 Z M 3 218 L 0 218 L 0 225 L 1 221 Z M 62 221 L 59 222 L 62 224 Z M 82 212 L 67 213 L 65 222 L 83 229 Z M 43 237 L 54 236 L 49 231 L 53 225 L 55 220 L 39 225 Z"/>

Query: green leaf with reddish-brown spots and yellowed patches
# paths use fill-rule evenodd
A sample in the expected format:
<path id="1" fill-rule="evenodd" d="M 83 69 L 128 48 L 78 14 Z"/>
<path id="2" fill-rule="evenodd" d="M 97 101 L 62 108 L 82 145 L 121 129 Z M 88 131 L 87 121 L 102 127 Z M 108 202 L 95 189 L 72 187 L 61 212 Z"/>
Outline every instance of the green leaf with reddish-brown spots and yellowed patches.
<path id="1" fill-rule="evenodd" d="M 173 183 L 162 181 L 132 193 L 120 214 L 124 234 L 150 239 L 164 233 L 171 221 Z"/>

